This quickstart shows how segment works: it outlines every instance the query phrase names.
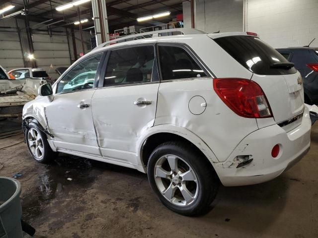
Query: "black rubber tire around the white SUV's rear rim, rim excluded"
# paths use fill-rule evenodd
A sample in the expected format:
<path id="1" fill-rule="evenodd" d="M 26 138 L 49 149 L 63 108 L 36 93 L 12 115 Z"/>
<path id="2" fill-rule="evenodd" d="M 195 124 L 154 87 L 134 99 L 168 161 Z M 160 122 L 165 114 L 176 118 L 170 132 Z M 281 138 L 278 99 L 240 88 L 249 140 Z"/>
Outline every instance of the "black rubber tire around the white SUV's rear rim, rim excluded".
<path id="1" fill-rule="evenodd" d="M 159 190 L 155 179 L 155 166 L 157 161 L 165 155 L 175 155 L 181 158 L 194 172 L 197 179 L 196 188 L 198 188 L 198 191 L 196 198 L 190 205 L 177 206 L 170 202 L 171 200 L 168 201 Z M 182 160 L 181 163 L 183 163 Z M 166 142 L 159 145 L 153 151 L 148 161 L 148 179 L 152 190 L 159 200 L 170 210 L 185 216 L 202 215 L 209 211 L 209 206 L 216 197 L 220 183 L 210 162 L 191 146 L 182 142 Z M 172 183 L 172 181 L 168 181 L 168 183 L 169 182 Z"/>

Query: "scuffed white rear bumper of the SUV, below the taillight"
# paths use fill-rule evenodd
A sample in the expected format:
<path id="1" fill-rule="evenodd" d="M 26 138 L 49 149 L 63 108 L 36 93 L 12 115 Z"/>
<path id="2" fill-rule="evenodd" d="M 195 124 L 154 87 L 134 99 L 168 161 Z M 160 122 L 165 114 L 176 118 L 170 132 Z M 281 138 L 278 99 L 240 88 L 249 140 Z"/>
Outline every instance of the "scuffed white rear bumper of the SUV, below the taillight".
<path id="1" fill-rule="evenodd" d="M 299 126 L 289 132 L 277 124 L 256 130 L 239 143 L 225 162 L 214 163 L 214 168 L 225 186 L 249 185 L 274 179 L 308 153 L 310 131 L 311 119 L 305 107 Z M 273 158 L 271 151 L 276 144 L 280 145 L 280 152 Z M 252 158 L 252 162 L 237 168 L 242 162 L 240 158 L 244 156 Z"/>

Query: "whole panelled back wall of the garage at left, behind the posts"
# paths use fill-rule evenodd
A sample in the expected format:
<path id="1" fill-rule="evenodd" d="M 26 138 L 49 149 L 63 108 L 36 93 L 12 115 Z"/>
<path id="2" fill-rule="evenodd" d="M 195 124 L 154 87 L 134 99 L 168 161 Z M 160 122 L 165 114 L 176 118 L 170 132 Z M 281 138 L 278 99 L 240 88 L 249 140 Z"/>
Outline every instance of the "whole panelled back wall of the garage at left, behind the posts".
<path id="1" fill-rule="evenodd" d="M 36 24 L 38 23 L 30 22 L 31 27 Z M 18 28 L 21 29 L 20 37 Z M 89 32 L 83 32 L 85 53 L 90 51 L 87 49 L 90 37 Z M 75 30 L 75 38 L 77 58 L 79 58 L 79 53 L 82 50 L 78 30 Z M 75 61 L 70 29 L 67 32 L 63 27 L 55 28 L 52 35 L 49 35 L 45 30 L 36 29 L 32 31 L 32 41 L 37 67 L 45 69 L 53 79 L 59 77 L 55 72 L 57 67 L 68 67 Z M 7 71 L 12 68 L 31 67 L 32 62 L 27 58 L 29 53 L 24 20 L 17 19 L 17 23 L 14 18 L 0 20 L 0 65 Z"/>

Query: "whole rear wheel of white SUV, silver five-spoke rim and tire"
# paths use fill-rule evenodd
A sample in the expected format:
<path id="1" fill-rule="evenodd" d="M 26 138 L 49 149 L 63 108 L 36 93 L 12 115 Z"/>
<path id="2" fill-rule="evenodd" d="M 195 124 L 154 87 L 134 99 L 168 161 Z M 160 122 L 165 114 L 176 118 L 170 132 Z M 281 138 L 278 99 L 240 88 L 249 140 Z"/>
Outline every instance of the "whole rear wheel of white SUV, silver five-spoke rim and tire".
<path id="1" fill-rule="evenodd" d="M 159 145 L 148 162 L 148 179 L 160 201 L 181 215 L 200 215 L 214 200 L 218 187 L 210 162 L 180 142 Z"/>

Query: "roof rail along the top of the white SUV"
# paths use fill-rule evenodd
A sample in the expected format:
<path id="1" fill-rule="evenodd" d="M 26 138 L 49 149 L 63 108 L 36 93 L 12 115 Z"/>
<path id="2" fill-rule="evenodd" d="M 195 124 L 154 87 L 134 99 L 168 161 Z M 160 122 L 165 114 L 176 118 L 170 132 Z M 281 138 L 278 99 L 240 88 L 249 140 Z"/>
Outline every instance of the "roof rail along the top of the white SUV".
<path id="1" fill-rule="evenodd" d="M 160 33 L 169 33 L 169 32 L 180 32 L 181 34 L 179 35 L 193 35 L 193 34 L 206 34 L 206 32 L 198 30 L 198 29 L 193 29 L 193 28 L 174 28 L 174 29 L 166 29 L 166 30 L 159 30 L 159 31 L 149 31 L 149 32 L 144 32 L 140 34 L 133 34 L 129 36 L 124 36 L 120 37 L 111 41 L 106 41 L 93 50 L 100 49 L 102 47 L 111 45 L 111 44 L 116 44 L 118 42 L 126 42 L 126 41 L 131 41 L 131 40 L 140 40 L 140 39 L 146 39 L 146 38 L 151 38 L 151 37 L 159 37 Z"/>

